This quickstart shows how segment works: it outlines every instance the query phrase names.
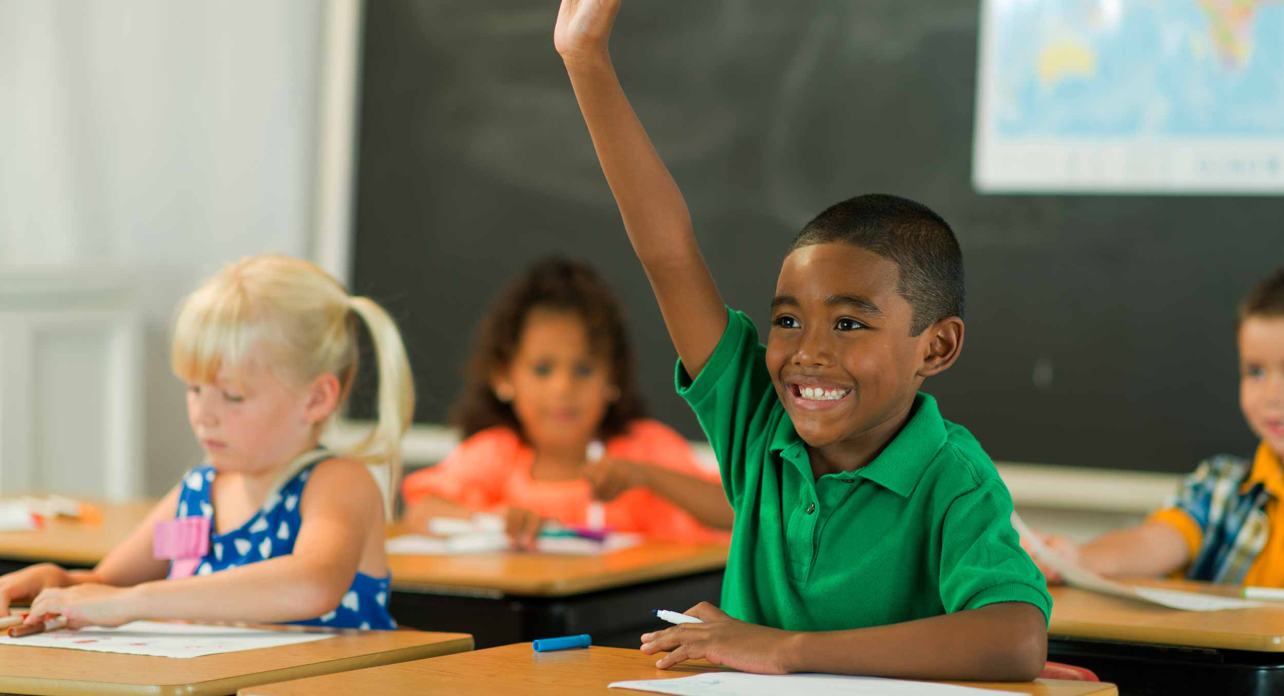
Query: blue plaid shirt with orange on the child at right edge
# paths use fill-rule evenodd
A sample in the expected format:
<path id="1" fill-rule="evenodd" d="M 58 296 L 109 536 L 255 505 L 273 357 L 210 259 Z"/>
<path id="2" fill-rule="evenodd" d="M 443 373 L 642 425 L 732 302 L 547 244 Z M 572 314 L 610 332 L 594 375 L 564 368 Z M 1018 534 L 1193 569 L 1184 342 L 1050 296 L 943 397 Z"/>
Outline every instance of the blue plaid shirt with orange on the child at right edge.
<path id="1" fill-rule="evenodd" d="M 1280 482 L 1279 458 L 1266 443 L 1256 461 L 1219 455 L 1199 462 L 1177 494 L 1152 515 L 1177 528 L 1190 544 L 1186 578 L 1243 584 L 1270 537 L 1269 512 L 1276 507 Z"/>

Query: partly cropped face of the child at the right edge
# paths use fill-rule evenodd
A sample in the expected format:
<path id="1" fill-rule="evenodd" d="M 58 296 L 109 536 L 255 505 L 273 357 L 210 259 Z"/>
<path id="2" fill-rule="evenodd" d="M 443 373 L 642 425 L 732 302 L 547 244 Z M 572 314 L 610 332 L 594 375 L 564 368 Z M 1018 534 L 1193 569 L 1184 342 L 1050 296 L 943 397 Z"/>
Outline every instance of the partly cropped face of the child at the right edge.
<path id="1" fill-rule="evenodd" d="M 1239 327 L 1239 407 L 1253 433 L 1284 456 L 1284 317 Z"/>

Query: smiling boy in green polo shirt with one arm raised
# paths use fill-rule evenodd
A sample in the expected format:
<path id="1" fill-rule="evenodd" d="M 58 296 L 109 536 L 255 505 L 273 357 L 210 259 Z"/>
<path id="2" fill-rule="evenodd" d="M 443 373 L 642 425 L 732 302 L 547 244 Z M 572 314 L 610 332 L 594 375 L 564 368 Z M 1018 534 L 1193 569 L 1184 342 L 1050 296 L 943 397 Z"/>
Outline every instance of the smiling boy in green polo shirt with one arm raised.
<path id="1" fill-rule="evenodd" d="M 642 636 L 657 665 L 1031 679 L 1052 601 L 967 430 L 918 392 L 963 347 L 949 226 L 890 195 L 838 203 L 781 267 L 767 345 L 729 311 L 607 51 L 619 0 L 562 0 L 555 44 L 678 351 L 678 390 L 736 511 L 723 610 Z M 724 611 L 725 610 L 725 611 Z"/>

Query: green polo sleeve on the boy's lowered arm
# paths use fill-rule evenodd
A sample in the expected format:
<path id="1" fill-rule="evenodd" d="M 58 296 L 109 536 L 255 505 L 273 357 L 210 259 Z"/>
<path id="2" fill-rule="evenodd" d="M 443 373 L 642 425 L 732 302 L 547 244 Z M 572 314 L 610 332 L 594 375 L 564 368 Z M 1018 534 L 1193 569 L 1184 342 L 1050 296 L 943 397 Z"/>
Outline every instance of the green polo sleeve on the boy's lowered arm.
<path id="1" fill-rule="evenodd" d="M 1012 528 L 1012 498 L 998 478 L 955 498 L 941 529 L 941 604 L 945 611 L 996 602 L 1028 602 L 1052 618 L 1043 573 Z"/>

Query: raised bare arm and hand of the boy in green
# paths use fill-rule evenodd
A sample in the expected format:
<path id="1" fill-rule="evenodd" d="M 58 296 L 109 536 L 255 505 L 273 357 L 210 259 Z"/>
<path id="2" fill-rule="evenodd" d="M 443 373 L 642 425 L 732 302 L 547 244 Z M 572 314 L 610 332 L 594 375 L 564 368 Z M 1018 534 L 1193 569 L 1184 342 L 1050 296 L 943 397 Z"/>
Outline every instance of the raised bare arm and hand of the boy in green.
<path id="1" fill-rule="evenodd" d="M 624 229 L 646 270 L 678 357 L 695 379 L 727 327 L 727 309 L 700 254 L 682 191 L 615 76 L 607 40 L 620 0 L 562 0 L 553 45 Z"/>

